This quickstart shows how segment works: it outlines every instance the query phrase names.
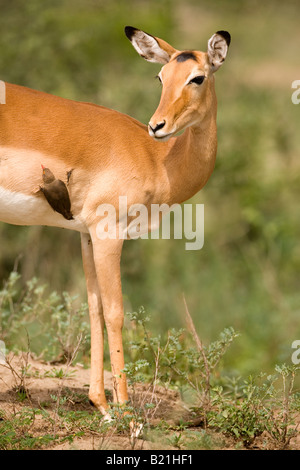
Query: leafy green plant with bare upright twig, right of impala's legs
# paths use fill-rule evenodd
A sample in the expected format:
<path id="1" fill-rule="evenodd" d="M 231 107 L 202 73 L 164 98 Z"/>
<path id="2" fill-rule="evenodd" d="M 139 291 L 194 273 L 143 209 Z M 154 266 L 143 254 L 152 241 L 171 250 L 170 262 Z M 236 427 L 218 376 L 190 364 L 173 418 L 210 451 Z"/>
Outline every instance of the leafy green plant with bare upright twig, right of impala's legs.
<path id="1" fill-rule="evenodd" d="M 196 394 L 197 402 L 194 408 L 201 410 L 206 423 L 205 415 L 211 407 L 212 376 L 238 334 L 233 328 L 227 328 L 220 334 L 217 341 L 208 347 L 204 346 L 196 332 L 186 303 L 185 307 L 187 325 L 194 341 L 193 344 L 183 329 L 169 331 L 165 341 L 160 335 L 152 337 L 147 330 L 149 316 L 141 308 L 138 312 L 131 314 L 130 318 L 142 326 L 143 341 L 139 344 L 137 342 L 131 343 L 131 347 L 134 346 L 139 355 L 145 354 L 147 358 L 152 358 L 152 373 L 150 375 L 153 377 L 153 384 L 158 382 L 188 384 Z M 150 363 L 148 363 L 149 365 Z"/>

